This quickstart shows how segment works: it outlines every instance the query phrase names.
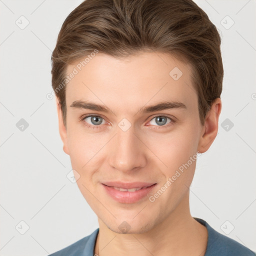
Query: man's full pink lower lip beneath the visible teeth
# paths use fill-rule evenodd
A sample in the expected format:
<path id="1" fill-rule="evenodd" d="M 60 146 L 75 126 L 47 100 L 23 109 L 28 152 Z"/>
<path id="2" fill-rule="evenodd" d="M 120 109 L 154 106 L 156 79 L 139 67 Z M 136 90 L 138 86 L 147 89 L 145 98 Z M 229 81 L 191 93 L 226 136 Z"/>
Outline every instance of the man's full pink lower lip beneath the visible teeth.
<path id="1" fill-rule="evenodd" d="M 116 201 L 121 203 L 133 203 L 136 202 L 145 196 L 153 189 L 156 184 L 151 186 L 147 186 L 145 188 L 139 189 L 134 192 L 129 191 L 119 191 L 114 189 L 113 187 L 102 184 L 106 192 Z"/>

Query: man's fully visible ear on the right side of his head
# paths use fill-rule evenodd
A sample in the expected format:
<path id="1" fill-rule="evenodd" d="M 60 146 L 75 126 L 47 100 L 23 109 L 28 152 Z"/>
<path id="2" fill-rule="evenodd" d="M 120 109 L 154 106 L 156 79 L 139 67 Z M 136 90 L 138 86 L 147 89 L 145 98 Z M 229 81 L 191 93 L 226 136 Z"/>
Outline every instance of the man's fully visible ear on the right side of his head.
<path id="1" fill-rule="evenodd" d="M 202 128 L 201 136 L 197 150 L 201 153 L 207 151 L 214 141 L 218 131 L 218 117 L 221 111 L 221 100 L 216 98 L 211 105 L 210 110 L 205 116 L 205 122 Z"/>

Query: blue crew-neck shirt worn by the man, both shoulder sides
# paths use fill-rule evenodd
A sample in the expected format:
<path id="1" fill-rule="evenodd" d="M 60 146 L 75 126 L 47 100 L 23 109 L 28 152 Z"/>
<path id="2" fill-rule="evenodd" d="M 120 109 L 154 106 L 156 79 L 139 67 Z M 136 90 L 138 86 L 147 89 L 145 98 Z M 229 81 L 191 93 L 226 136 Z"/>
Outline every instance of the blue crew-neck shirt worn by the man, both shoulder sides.
<path id="1" fill-rule="evenodd" d="M 208 231 L 207 247 L 204 256 L 256 256 L 256 253 L 239 242 L 214 230 L 205 220 L 194 217 Z M 48 256 L 93 256 L 99 228 L 90 235 Z"/>

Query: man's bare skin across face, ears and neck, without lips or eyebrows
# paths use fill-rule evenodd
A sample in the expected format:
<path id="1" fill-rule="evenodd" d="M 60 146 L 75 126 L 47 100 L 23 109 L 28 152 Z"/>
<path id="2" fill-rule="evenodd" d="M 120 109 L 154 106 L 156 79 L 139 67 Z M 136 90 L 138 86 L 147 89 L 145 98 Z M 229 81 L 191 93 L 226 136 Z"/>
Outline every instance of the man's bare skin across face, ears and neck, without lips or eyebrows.
<path id="1" fill-rule="evenodd" d="M 78 62 L 68 65 L 67 74 Z M 174 67 L 183 73 L 178 80 L 169 75 Z M 104 104 L 112 112 L 70 107 L 75 100 Z M 164 100 L 180 101 L 186 108 L 138 112 Z M 154 202 L 149 195 L 135 203 L 116 202 L 101 184 L 106 180 L 156 182 L 153 195 L 189 157 L 210 147 L 217 134 L 221 100 L 213 102 L 202 125 L 189 64 L 161 52 L 123 59 L 97 53 L 66 85 L 66 127 L 57 99 L 56 103 L 63 150 L 76 170 L 82 195 L 98 216 L 94 253 L 204 255 L 207 230 L 189 210 L 196 161 Z M 90 117 L 82 120 L 89 114 L 103 119 L 97 125 Z M 160 125 L 157 116 L 174 121 L 167 118 Z M 118 127 L 123 118 L 131 124 L 127 131 Z M 118 228 L 123 221 L 130 226 L 127 233 Z"/>

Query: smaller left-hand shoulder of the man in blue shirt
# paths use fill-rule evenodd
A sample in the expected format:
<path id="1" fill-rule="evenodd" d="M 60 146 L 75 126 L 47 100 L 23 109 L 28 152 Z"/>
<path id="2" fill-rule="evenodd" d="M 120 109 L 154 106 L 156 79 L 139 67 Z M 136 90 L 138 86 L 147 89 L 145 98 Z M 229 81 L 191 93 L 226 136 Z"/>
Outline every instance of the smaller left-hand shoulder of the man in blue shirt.
<path id="1" fill-rule="evenodd" d="M 98 234 L 98 228 L 90 235 L 87 235 L 80 240 L 58 250 L 48 256 L 80 256 L 80 255 L 93 255 L 95 239 Z M 86 254 L 85 254 L 86 253 Z"/>

